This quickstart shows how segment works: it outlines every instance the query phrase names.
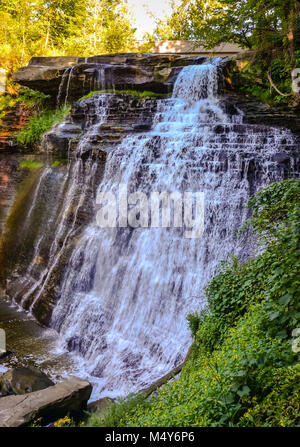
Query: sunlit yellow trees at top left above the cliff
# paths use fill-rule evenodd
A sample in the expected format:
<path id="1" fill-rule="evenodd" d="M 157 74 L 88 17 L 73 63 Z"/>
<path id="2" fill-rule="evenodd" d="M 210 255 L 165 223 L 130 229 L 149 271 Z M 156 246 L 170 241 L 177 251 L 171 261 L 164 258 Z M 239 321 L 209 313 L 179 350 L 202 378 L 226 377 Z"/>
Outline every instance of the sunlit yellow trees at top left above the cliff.
<path id="1" fill-rule="evenodd" d="M 0 1 L 0 65 L 10 73 L 33 56 L 128 51 L 133 40 L 123 0 Z"/>

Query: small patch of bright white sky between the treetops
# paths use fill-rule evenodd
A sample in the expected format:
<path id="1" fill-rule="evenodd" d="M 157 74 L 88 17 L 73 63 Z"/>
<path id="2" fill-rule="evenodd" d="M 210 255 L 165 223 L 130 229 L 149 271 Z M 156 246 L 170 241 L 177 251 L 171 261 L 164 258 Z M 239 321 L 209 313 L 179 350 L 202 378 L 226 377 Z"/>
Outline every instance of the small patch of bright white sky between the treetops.
<path id="1" fill-rule="evenodd" d="M 155 18 L 149 16 L 148 10 L 160 19 L 171 12 L 170 0 L 127 0 L 127 3 L 136 22 L 138 40 L 142 39 L 144 33 L 151 33 L 155 28 Z"/>

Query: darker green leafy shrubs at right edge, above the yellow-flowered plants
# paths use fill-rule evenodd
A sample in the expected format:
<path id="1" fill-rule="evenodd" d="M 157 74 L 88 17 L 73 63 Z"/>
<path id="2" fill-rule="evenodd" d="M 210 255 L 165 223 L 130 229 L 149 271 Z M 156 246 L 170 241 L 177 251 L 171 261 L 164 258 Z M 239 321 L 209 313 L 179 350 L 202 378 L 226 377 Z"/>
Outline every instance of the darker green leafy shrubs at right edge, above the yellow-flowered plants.
<path id="1" fill-rule="evenodd" d="M 249 262 L 217 275 L 207 288 L 211 311 L 233 323 L 249 303 L 265 300 L 270 331 L 273 325 L 285 334 L 298 324 L 300 181 L 274 183 L 249 201 L 251 226 L 265 251 Z M 273 321 L 273 323 L 271 323 Z M 279 329 L 280 328 L 280 329 Z"/>

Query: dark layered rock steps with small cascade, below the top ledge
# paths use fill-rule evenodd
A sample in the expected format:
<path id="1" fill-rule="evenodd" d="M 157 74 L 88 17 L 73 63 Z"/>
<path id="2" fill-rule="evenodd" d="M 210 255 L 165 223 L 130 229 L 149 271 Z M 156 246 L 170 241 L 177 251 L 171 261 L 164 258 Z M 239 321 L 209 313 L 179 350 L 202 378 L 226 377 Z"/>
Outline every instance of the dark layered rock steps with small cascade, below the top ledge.
<path id="1" fill-rule="evenodd" d="M 124 136 L 150 130 L 157 109 L 157 99 L 127 94 L 95 94 L 76 102 L 63 123 L 45 135 L 44 149 L 66 157 L 77 150 L 86 159 L 105 159 L 105 154 L 119 144 Z"/>

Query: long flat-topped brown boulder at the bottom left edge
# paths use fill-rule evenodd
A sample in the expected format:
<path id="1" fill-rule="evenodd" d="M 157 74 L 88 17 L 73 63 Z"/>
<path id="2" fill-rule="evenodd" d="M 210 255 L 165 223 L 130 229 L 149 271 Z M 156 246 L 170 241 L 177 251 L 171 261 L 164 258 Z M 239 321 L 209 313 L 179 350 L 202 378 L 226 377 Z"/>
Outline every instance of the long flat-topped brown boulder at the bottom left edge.
<path id="1" fill-rule="evenodd" d="M 72 377 L 64 382 L 22 396 L 0 399 L 0 427 L 21 427 L 42 418 L 42 424 L 86 409 L 92 386 Z"/>

